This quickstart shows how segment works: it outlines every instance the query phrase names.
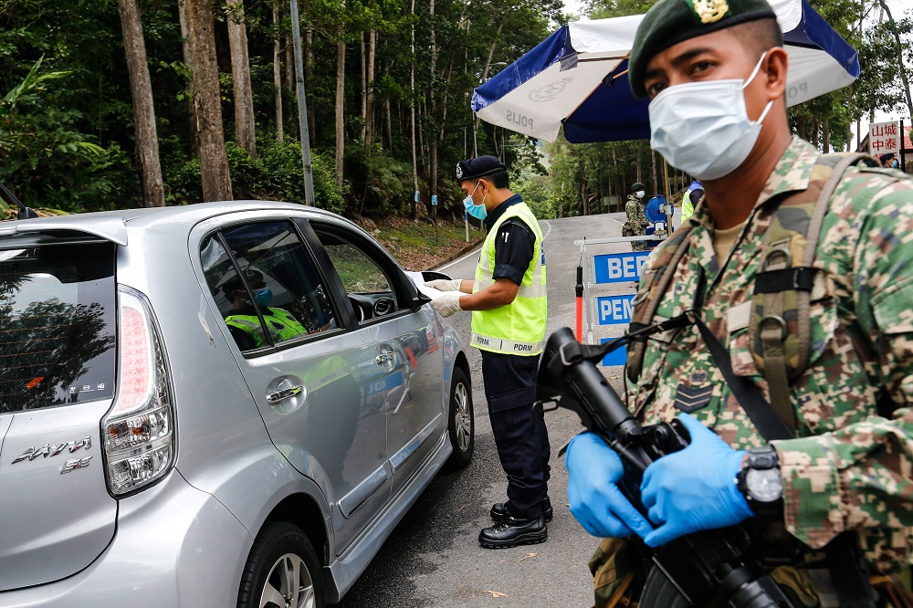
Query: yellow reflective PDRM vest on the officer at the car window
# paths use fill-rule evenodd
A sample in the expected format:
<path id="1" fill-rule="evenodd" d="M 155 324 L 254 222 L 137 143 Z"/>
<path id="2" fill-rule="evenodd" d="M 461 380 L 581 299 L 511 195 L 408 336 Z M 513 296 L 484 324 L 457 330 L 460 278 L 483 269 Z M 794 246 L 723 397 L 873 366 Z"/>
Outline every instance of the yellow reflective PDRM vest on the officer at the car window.
<path id="1" fill-rule="evenodd" d="M 494 285 L 495 240 L 500 226 L 512 217 L 522 219 L 536 236 L 530 267 L 523 274 L 514 301 L 497 309 L 473 311 L 471 344 L 483 351 L 538 355 L 542 351 L 545 323 L 549 316 L 545 294 L 545 254 L 542 251 L 542 229 L 526 203 L 510 205 L 491 226 L 478 257 L 476 282 L 472 290 L 475 293 Z"/>

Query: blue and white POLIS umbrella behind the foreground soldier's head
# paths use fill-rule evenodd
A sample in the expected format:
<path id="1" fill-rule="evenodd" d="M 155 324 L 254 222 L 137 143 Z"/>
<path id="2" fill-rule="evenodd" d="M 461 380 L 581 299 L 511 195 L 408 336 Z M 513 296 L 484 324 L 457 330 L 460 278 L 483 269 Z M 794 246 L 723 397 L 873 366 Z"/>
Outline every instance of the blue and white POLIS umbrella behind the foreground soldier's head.
<path id="1" fill-rule="evenodd" d="M 856 51 L 806 0 L 772 0 L 771 6 L 789 56 L 787 105 L 845 87 L 859 76 Z M 478 87 L 472 110 L 483 121 L 548 142 L 562 124 L 574 143 L 648 139 L 647 100 L 634 97 L 627 79 L 627 58 L 643 18 L 561 27 Z"/>

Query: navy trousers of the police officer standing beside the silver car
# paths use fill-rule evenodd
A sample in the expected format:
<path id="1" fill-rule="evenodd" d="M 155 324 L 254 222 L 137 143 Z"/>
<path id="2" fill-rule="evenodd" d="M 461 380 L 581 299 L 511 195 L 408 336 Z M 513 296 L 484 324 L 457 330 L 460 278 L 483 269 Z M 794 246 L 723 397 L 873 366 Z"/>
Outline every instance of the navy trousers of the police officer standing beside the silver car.
<path id="1" fill-rule="evenodd" d="M 515 518 L 542 514 L 551 466 L 545 416 L 535 412 L 539 357 L 482 351 L 482 380 L 498 458 L 508 476 L 508 511 Z"/>

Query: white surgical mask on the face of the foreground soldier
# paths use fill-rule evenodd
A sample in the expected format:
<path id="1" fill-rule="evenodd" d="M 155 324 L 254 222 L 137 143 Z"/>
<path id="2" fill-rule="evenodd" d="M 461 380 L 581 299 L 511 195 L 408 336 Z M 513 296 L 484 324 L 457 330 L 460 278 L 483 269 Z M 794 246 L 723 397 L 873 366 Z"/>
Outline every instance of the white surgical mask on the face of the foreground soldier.
<path id="1" fill-rule="evenodd" d="M 754 148 L 761 123 L 773 101 L 751 121 L 744 89 L 758 75 L 761 62 L 747 80 L 688 82 L 664 89 L 650 102 L 650 147 L 666 161 L 698 180 L 716 180 L 735 171 Z"/>

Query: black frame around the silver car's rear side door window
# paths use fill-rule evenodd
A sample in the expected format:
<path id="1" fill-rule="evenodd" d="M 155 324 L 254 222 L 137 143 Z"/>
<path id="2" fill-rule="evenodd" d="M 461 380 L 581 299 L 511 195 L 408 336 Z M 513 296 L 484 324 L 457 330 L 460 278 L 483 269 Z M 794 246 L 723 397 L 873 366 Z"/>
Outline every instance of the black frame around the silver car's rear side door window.
<path id="1" fill-rule="evenodd" d="M 231 331 L 228 330 L 228 326 L 226 324 L 225 317 L 222 316 L 222 312 L 219 309 L 218 303 L 215 301 L 215 295 L 212 293 L 212 288 L 209 288 L 209 281 L 206 280 L 203 259 L 200 255 L 202 248 L 197 247 L 197 251 L 196 251 L 195 255 L 197 257 L 198 263 L 200 265 L 200 269 L 203 274 L 203 276 L 202 276 L 203 284 L 205 286 L 207 286 L 207 288 L 210 292 L 209 297 L 211 299 L 213 299 L 214 309 L 217 312 L 216 316 L 219 318 L 222 325 L 225 327 L 227 341 L 230 343 L 232 348 L 235 348 L 238 351 L 238 353 L 246 360 L 258 359 L 260 357 L 263 357 L 263 356 L 266 356 L 269 354 L 274 354 L 274 353 L 281 352 L 281 351 L 289 351 L 290 349 L 298 348 L 299 346 L 302 346 L 304 344 L 310 344 L 310 343 L 316 342 L 316 341 L 328 340 L 332 337 L 339 336 L 347 331 L 351 331 L 354 329 L 354 325 L 353 325 L 354 311 L 352 310 L 352 306 L 349 303 L 348 296 L 346 296 L 344 299 L 341 299 L 338 288 L 333 285 L 333 281 L 330 280 L 330 278 L 327 276 L 327 272 L 325 271 L 323 265 L 320 264 L 320 260 L 317 259 L 317 257 L 314 255 L 313 247 L 311 246 L 307 235 L 304 234 L 306 231 L 302 230 L 302 227 L 303 227 L 302 224 L 304 226 L 307 226 L 307 219 L 295 217 L 295 216 L 291 216 L 291 215 L 257 217 L 257 219 L 246 219 L 246 220 L 236 219 L 234 221 L 226 222 L 225 224 L 219 224 L 219 225 L 215 226 L 213 229 L 206 231 L 205 234 L 200 238 L 200 241 L 199 241 L 200 246 L 202 246 L 205 243 L 206 239 L 208 239 L 210 237 L 217 238 L 219 241 L 219 244 L 223 247 L 223 249 L 225 249 L 226 254 L 228 255 L 229 261 L 231 262 L 232 266 L 235 268 L 235 272 L 238 274 L 239 278 L 241 278 L 241 281 L 242 281 L 244 287 L 247 289 L 247 292 L 253 298 L 253 293 L 251 291 L 251 287 L 250 287 L 250 285 L 247 284 L 247 279 L 244 278 L 244 275 L 241 272 L 241 268 L 238 266 L 235 254 L 231 251 L 231 248 L 229 246 L 227 246 L 226 237 L 223 233 L 225 231 L 230 231 L 230 230 L 233 230 L 233 229 L 236 229 L 239 227 L 245 227 L 245 226 L 254 225 L 254 224 L 268 224 L 268 223 L 275 223 L 275 222 L 284 222 L 284 223 L 288 224 L 289 227 L 294 232 L 294 234 L 296 236 L 298 236 L 299 242 L 303 246 L 306 259 L 308 261 L 310 261 L 310 264 L 313 266 L 314 270 L 316 271 L 318 278 L 320 278 L 320 281 L 323 283 L 323 287 L 326 288 L 326 290 L 327 290 L 327 296 L 330 299 L 331 306 L 333 307 L 334 316 L 337 319 L 337 327 L 335 327 L 331 330 L 302 334 L 302 335 L 296 336 L 295 338 L 292 338 L 290 340 L 282 341 L 279 343 L 273 342 L 272 336 L 269 334 L 268 331 L 265 331 L 264 335 L 268 336 L 268 340 L 271 342 L 268 346 L 262 346 L 260 348 L 250 349 L 248 351 L 242 351 L 241 348 L 238 346 L 237 342 L 235 341 L 234 337 L 232 336 Z M 333 273 L 333 274 L 335 275 L 335 273 Z M 337 280 L 338 280 L 338 278 L 337 278 Z M 344 303 L 345 305 L 343 306 L 342 303 Z M 257 309 L 257 317 L 260 321 L 261 326 L 263 326 L 263 323 L 264 323 L 263 315 L 262 315 L 262 311 L 259 309 Z M 264 330 L 266 330 L 266 328 L 264 328 Z"/>

